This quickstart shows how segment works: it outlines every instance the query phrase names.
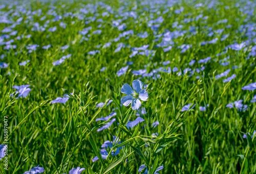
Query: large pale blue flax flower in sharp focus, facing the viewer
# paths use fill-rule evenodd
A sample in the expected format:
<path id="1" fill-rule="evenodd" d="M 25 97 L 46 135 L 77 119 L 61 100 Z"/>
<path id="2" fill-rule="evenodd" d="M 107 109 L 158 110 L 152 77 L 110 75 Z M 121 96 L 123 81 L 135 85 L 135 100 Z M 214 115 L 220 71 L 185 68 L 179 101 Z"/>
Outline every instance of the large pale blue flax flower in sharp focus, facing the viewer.
<path id="1" fill-rule="evenodd" d="M 124 84 L 121 92 L 127 94 L 121 98 L 121 104 L 124 106 L 132 105 L 133 110 L 138 110 L 141 106 L 141 101 L 146 101 L 148 93 L 143 89 L 143 83 L 140 80 L 133 81 L 133 88 L 129 84 Z"/>

